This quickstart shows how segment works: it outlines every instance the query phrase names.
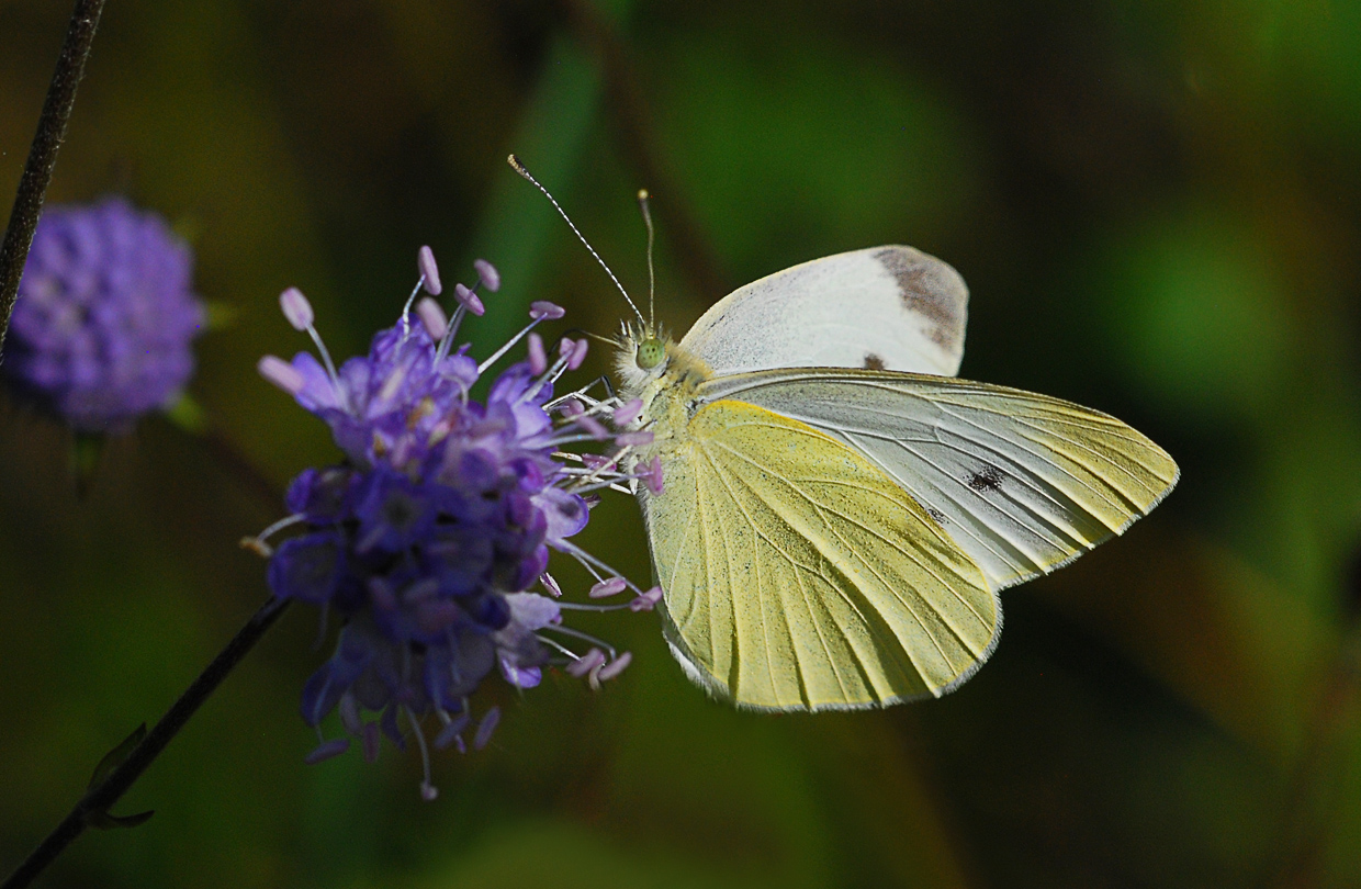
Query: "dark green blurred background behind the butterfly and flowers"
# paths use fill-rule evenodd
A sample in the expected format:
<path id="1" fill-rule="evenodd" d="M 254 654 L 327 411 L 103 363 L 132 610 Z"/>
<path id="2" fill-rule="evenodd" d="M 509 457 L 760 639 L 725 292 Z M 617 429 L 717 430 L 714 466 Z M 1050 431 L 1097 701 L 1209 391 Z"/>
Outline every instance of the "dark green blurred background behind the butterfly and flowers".
<path id="1" fill-rule="evenodd" d="M 68 15 L 0 0 L 0 195 Z M 157 817 L 41 885 L 1361 886 L 1357 0 L 113 0 L 50 199 L 189 234 L 233 314 L 191 387 L 219 441 L 152 418 L 80 501 L 68 434 L 0 415 L 0 870 L 263 600 L 237 539 L 336 456 L 255 373 L 305 344 L 284 286 L 340 355 L 421 244 L 446 280 L 499 265 L 482 354 L 531 298 L 617 327 L 512 150 L 636 294 L 652 189 L 672 328 L 800 260 L 946 259 L 962 376 L 1121 417 L 1180 487 L 1004 594 L 996 655 L 939 701 L 736 713 L 655 615 L 595 621 L 634 666 L 489 683 L 501 730 L 438 757 L 433 805 L 414 754 L 302 764 L 329 643 L 294 609 L 118 809 Z M 642 579 L 641 535 L 623 497 L 585 534 Z"/>

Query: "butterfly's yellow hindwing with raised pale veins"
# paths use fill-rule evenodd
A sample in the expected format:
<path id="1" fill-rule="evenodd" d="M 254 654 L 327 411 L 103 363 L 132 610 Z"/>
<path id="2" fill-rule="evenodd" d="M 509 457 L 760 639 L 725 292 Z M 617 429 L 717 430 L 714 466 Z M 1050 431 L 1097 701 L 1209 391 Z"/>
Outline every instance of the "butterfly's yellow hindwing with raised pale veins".
<path id="1" fill-rule="evenodd" d="M 740 705 L 836 709 L 940 694 L 1000 628 L 973 561 L 893 479 L 788 417 L 719 400 L 645 497 L 668 637 Z"/>

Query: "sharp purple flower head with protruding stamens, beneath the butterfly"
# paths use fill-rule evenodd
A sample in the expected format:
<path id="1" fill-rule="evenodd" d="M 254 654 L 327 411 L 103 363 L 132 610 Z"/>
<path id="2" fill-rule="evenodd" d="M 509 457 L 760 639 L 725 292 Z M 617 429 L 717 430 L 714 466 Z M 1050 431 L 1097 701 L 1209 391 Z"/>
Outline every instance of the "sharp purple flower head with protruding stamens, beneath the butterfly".
<path id="1" fill-rule="evenodd" d="M 429 249 L 419 268 L 429 293 L 438 280 Z M 480 286 L 497 280 L 490 264 L 479 264 L 478 274 Z M 427 799 L 434 788 L 425 723 L 440 723 L 436 747 L 463 749 L 470 697 L 491 674 L 520 689 L 536 686 L 553 664 L 580 668 L 592 685 L 617 675 L 629 653 L 563 626 L 563 613 L 648 610 L 657 596 L 570 540 L 589 519 L 592 491 L 633 481 L 610 468 L 626 442 L 615 441 L 615 453 L 593 455 L 589 464 L 563 452 L 595 441 L 592 426 L 603 429 L 597 418 L 610 418 L 617 403 L 585 392 L 554 399 L 577 347 L 559 350 L 550 363 L 539 340 L 529 361 L 498 373 L 486 399 L 474 400 L 472 385 L 531 328 L 561 317 L 536 306 L 524 331 L 478 363 L 468 346 L 453 347 L 463 317 L 482 308 L 467 295 L 475 298 L 474 290 L 455 287 L 457 308 L 448 319 L 426 302 L 414 319 L 408 302 L 397 324 L 373 338 L 367 355 L 339 368 L 302 294 L 286 291 L 290 323 L 308 331 L 321 359 L 299 353 L 291 362 L 260 362 L 265 378 L 331 426 L 346 455 L 344 463 L 298 475 L 286 498 L 291 516 L 252 542 L 269 551 L 269 532 L 301 528 L 272 550 L 269 585 L 276 596 L 317 604 L 343 622 L 335 653 L 304 688 L 302 717 L 320 735 L 321 722 L 339 711 L 370 757 L 380 734 L 399 747 L 414 737 L 426 758 Z M 550 550 L 585 565 L 597 587 L 633 589 L 632 602 L 559 600 L 562 591 L 547 573 Z M 535 585 L 548 595 L 532 592 Z M 595 647 L 577 653 L 581 640 Z M 498 719 L 494 708 L 485 712 L 474 747 L 487 742 Z M 347 746 L 324 741 L 309 761 Z"/>

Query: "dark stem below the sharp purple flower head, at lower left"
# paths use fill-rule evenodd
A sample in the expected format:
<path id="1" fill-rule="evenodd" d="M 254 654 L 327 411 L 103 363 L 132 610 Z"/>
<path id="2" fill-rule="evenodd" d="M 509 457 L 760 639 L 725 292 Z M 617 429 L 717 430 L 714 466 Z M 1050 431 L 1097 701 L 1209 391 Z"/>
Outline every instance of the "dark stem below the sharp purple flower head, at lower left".
<path id="1" fill-rule="evenodd" d="M 91 821 L 106 815 L 109 809 L 147 771 L 147 766 L 161 756 L 161 751 L 166 749 L 170 739 L 180 734 L 180 730 L 184 728 L 199 707 L 222 685 L 227 674 L 255 648 L 255 644 L 279 619 L 287 604 L 287 599 L 271 598 L 260 606 L 260 610 L 246 621 L 245 626 L 227 643 L 227 647 L 218 652 L 212 663 L 199 674 L 199 678 L 184 690 L 180 700 L 166 711 L 161 722 L 128 753 L 128 758 L 109 772 L 109 776 L 102 783 L 90 788 L 71 813 L 61 820 L 61 824 L 0 884 L 0 889 L 22 889 L 30 885 L 72 840 L 84 832 Z"/>

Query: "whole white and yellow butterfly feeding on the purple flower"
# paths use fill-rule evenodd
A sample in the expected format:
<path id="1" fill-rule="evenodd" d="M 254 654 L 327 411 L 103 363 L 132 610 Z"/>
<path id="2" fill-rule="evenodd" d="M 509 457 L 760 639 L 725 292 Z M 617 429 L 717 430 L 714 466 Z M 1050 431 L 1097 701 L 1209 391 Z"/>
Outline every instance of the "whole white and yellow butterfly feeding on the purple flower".
<path id="1" fill-rule="evenodd" d="M 1113 417 L 955 378 L 966 304 L 946 263 L 878 246 L 740 287 L 680 342 L 634 308 L 619 398 L 664 479 L 634 493 L 694 682 L 769 711 L 939 697 L 996 647 L 999 591 L 1176 485 Z"/>

